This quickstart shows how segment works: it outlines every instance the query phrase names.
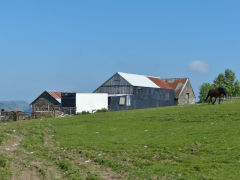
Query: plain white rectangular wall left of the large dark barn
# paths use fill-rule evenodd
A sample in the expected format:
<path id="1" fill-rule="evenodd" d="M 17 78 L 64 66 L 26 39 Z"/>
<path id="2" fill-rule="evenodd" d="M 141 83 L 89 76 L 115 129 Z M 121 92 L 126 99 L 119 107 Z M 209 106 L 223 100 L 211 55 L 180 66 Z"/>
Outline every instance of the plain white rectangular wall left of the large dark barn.
<path id="1" fill-rule="evenodd" d="M 106 93 L 76 93 L 76 113 L 93 112 L 108 109 L 108 94 Z"/>

